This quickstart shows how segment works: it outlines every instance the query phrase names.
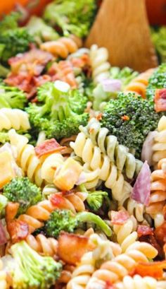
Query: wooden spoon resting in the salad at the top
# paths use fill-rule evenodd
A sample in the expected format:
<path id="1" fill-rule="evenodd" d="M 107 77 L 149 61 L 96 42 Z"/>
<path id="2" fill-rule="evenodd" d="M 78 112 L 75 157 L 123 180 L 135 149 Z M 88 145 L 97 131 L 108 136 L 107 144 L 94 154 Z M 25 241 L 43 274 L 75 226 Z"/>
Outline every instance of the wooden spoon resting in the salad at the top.
<path id="1" fill-rule="evenodd" d="M 144 0 L 103 0 L 85 42 L 106 47 L 113 66 L 145 71 L 158 65 Z"/>

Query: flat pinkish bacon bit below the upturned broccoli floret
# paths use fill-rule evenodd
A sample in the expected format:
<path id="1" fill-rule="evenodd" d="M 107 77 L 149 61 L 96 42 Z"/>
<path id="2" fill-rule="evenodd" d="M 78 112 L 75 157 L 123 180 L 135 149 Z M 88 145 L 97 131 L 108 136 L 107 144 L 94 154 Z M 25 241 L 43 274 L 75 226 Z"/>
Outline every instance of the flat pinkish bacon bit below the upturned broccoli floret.
<path id="1" fill-rule="evenodd" d="M 56 141 L 55 138 L 48 139 L 41 143 L 39 146 L 34 148 L 34 151 L 38 158 L 42 155 L 49 155 L 50 153 L 58 153 L 65 149 L 65 146 L 60 146 L 60 144 Z"/>

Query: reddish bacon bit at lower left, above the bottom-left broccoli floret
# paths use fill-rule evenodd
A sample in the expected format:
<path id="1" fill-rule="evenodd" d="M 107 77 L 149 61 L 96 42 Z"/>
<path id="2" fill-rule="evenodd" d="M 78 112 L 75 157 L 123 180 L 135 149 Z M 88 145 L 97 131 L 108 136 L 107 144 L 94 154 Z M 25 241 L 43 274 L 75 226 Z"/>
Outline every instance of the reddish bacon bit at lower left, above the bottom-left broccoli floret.
<path id="1" fill-rule="evenodd" d="M 7 229 L 13 243 L 25 240 L 29 234 L 27 223 L 22 222 L 21 220 L 8 221 Z"/>

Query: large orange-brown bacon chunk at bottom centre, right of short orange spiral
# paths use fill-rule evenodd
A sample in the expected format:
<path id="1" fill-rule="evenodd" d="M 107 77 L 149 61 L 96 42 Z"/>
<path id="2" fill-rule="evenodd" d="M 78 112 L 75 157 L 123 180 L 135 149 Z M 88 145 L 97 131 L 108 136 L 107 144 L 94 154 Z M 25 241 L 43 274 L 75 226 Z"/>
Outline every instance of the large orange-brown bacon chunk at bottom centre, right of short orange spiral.
<path id="1" fill-rule="evenodd" d="M 82 255 L 91 250 L 89 238 L 61 232 L 58 237 L 58 256 L 65 263 L 76 265 Z"/>

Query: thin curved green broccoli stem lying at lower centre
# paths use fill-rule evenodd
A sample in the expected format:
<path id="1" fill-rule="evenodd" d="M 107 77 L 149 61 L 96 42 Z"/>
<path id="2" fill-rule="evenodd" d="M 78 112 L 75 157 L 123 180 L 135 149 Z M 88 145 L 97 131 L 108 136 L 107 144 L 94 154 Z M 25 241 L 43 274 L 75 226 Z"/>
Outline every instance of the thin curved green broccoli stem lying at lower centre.
<path id="1" fill-rule="evenodd" d="M 110 237 L 112 235 L 112 230 L 108 227 L 108 225 L 97 215 L 90 212 L 81 212 L 77 213 L 76 216 L 79 222 L 91 222 L 95 223 L 98 227 L 103 230 L 103 232 Z"/>

